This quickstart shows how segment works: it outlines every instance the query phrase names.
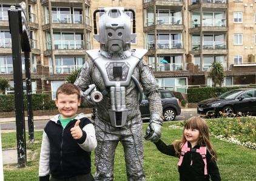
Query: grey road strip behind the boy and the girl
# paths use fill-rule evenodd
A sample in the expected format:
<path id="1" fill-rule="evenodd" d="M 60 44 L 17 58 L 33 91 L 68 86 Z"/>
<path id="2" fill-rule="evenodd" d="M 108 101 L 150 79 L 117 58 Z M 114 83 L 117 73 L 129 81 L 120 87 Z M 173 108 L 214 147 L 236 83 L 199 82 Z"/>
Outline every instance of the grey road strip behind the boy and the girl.
<path id="1" fill-rule="evenodd" d="M 181 115 L 177 116 L 175 120 L 184 120 L 189 119 L 192 116 L 198 116 L 197 112 L 195 111 L 187 111 L 181 113 Z M 34 121 L 35 130 L 43 130 L 47 120 L 36 120 Z M 16 123 L 15 122 L 7 122 L 7 123 L 0 123 L 2 131 L 12 131 L 16 130 Z M 27 130 L 27 121 L 25 122 L 25 129 Z"/>

